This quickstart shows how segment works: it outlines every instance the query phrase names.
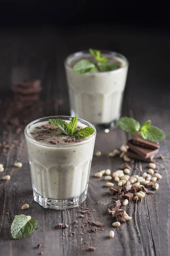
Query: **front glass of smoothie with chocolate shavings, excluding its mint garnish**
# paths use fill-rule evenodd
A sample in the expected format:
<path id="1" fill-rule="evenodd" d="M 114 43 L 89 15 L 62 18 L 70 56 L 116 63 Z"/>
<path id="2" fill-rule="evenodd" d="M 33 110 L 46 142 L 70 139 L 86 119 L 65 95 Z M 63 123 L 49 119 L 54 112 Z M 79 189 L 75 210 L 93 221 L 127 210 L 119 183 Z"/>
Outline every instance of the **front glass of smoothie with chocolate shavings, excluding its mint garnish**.
<path id="1" fill-rule="evenodd" d="M 78 207 L 85 199 L 96 129 L 78 119 L 76 129 L 94 128 L 89 137 L 71 137 L 61 133 L 49 119 L 69 123 L 70 116 L 49 116 L 37 119 L 25 128 L 34 201 L 44 208 Z"/>

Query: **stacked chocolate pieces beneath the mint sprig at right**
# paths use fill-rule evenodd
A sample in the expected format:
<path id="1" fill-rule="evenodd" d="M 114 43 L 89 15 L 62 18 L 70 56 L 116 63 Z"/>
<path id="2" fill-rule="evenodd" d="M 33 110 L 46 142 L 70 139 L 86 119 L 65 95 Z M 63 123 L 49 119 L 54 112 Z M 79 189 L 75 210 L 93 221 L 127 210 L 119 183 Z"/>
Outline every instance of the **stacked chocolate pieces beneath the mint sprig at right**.
<path id="1" fill-rule="evenodd" d="M 133 134 L 133 139 L 127 141 L 127 156 L 130 158 L 143 160 L 154 163 L 154 156 L 159 151 L 159 143 L 144 140 L 140 136 L 140 132 Z"/>

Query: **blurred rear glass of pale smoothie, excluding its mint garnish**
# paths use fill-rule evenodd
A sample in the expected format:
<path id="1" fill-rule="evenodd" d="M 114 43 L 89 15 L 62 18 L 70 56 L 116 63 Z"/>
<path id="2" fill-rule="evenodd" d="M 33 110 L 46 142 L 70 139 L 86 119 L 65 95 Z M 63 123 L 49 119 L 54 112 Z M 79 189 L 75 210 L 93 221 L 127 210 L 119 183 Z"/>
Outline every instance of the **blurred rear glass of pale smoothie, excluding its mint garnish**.
<path id="1" fill-rule="evenodd" d="M 65 60 L 71 116 L 78 116 L 95 125 L 96 128 L 116 127 L 121 115 L 122 99 L 125 90 L 128 61 L 120 53 L 101 51 L 101 57 L 117 65 L 111 71 L 74 72 L 74 65 L 88 59 L 95 63 L 89 51 L 76 52 Z"/>

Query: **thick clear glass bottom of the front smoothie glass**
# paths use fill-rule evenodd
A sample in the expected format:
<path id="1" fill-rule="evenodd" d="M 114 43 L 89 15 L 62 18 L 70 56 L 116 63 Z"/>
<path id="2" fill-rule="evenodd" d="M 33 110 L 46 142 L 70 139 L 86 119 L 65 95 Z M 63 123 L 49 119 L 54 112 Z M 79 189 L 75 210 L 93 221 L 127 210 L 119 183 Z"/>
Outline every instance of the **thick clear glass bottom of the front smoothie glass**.
<path id="1" fill-rule="evenodd" d="M 56 210 L 64 210 L 69 208 L 78 207 L 83 201 L 85 201 L 87 197 L 87 188 L 85 191 L 74 198 L 68 198 L 65 200 L 57 200 L 57 199 L 50 199 L 42 197 L 38 194 L 34 189 L 34 201 L 39 203 L 44 208 L 56 209 Z"/>

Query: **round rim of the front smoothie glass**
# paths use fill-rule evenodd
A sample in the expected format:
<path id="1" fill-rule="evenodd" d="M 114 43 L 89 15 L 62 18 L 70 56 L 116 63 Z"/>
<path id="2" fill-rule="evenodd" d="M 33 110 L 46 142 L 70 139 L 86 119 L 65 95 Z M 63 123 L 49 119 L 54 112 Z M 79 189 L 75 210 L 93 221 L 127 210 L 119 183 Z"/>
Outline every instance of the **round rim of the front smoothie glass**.
<path id="1" fill-rule="evenodd" d="M 74 144 L 69 144 L 68 143 L 66 145 L 59 145 L 59 144 L 51 144 L 51 145 L 49 145 L 48 143 L 42 143 L 40 141 L 34 140 L 28 134 L 28 129 L 30 129 L 33 125 L 35 125 L 35 124 L 37 124 L 39 122 L 48 121 L 48 119 L 57 119 L 57 118 L 60 118 L 60 119 L 66 119 L 66 118 L 71 119 L 72 117 L 73 116 L 45 116 L 45 117 L 36 119 L 36 120 L 30 122 L 28 125 L 26 125 L 26 128 L 24 129 L 25 137 L 28 140 L 32 141 L 33 143 L 36 143 L 36 144 L 41 145 L 41 146 L 50 147 L 50 148 L 68 148 L 68 147 L 74 147 L 74 146 L 77 146 L 77 145 L 82 145 L 82 144 L 88 143 L 90 140 L 92 140 L 94 138 L 94 136 L 96 136 L 96 128 L 94 127 L 94 125 L 91 124 L 88 121 L 85 121 L 84 119 L 81 119 L 81 118 L 78 118 L 78 122 L 80 122 L 82 124 L 85 124 L 88 127 L 94 128 L 94 133 L 91 136 L 86 137 L 86 140 L 82 140 L 81 142 L 78 142 L 78 143 L 74 143 Z"/>

